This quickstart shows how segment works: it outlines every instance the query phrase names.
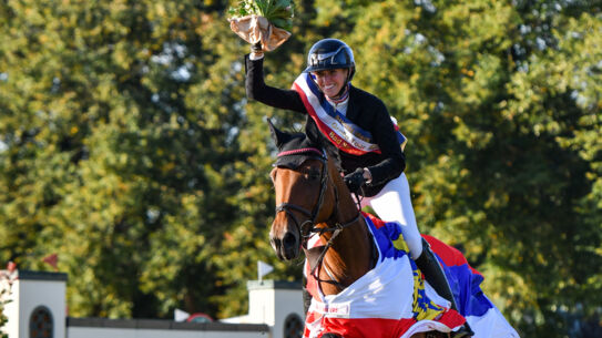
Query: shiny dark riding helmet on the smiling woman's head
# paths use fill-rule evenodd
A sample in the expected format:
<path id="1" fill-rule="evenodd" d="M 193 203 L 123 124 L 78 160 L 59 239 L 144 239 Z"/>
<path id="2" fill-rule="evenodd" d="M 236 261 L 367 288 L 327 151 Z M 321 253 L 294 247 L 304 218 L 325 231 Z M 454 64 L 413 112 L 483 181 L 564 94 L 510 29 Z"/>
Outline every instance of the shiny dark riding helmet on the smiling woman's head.
<path id="1" fill-rule="evenodd" d="M 307 53 L 307 68 L 304 72 L 317 72 L 328 69 L 349 69 L 347 82 L 356 71 L 354 52 L 347 43 L 337 39 L 323 39 L 316 42 Z"/>

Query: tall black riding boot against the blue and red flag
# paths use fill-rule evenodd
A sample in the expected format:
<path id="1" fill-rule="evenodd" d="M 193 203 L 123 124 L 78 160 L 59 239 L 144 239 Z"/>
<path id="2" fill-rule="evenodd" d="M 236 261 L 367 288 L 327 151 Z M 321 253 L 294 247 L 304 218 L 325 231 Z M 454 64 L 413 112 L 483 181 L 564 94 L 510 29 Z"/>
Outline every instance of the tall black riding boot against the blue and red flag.
<path id="1" fill-rule="evenodd" d="M 430 245 L 425 238 L 422 238 L 422 253 L 420 256 L 415 259 L 416 265 L 420 272 L 425 275 L 425 279 L 430 284 L 430 286 L 439 294 L 439 296 L 446 298 L 451 303 L 451 308 L 458 310 L 456 305 L 456 299 L 453 298 L 453 293 L 449 286 L 443 268 L 435 257 L 435 254 L 430 250 Z M 452 338 L 462 338 L 462 337 L 472 337 L 475 332 L 470 329 L 468 321 L 455 332 L 451 332 Z"/>

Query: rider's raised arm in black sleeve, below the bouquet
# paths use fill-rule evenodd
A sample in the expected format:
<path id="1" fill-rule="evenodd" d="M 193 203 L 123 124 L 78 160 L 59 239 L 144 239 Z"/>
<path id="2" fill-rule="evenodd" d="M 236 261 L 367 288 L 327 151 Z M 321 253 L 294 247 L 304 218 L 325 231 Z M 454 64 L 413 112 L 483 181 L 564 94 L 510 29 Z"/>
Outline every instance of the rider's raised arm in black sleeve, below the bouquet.
<path id="1" fill-rule="evenodd" d="M 306 113 L 303 101 L 296 91 L 283 90 L 265 84 L 263 63 L 264 58 L 252 60 L 248 54 L 245 55 L 245 88 L 247 98 L 274 107 Z"/>

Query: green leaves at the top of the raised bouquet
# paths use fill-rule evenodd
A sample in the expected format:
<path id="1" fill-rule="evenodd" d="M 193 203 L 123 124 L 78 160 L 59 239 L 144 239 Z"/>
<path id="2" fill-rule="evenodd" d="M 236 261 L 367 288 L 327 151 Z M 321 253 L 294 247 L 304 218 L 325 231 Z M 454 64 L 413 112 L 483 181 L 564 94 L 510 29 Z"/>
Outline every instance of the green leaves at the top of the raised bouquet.
<path id="1" fill-rule="evenodd" d="M 275 27 L 290 31 L 294 3 L 292 0 L 241 0 L 236 8 L 229 8 L 228 13 L 233 17 L 261 16 Z"/>

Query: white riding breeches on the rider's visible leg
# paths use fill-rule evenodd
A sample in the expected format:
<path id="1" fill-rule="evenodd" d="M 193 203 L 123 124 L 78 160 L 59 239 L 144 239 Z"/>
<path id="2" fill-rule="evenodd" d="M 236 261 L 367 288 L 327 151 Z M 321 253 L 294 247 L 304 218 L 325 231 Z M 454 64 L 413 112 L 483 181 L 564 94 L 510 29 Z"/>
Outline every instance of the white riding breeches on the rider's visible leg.
<path id="1" fill-rule="evenodd" d="M 420 256 L 422 237 L 416 225 L 410 186 L 405 173 L 387 183 L 376 196 L 364 197 L 361 207 L 366 205 L 370 205 L 380 219 L 401 224 L 401 234 L 408 244 L 411 258 L 416 259 Z"/>

